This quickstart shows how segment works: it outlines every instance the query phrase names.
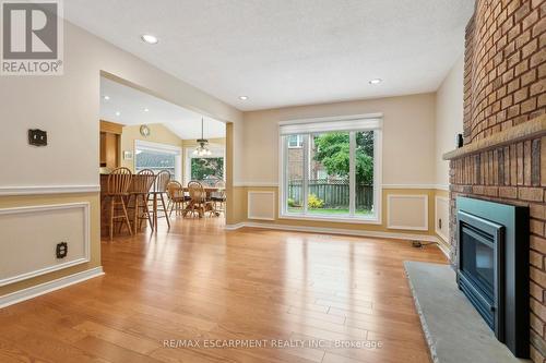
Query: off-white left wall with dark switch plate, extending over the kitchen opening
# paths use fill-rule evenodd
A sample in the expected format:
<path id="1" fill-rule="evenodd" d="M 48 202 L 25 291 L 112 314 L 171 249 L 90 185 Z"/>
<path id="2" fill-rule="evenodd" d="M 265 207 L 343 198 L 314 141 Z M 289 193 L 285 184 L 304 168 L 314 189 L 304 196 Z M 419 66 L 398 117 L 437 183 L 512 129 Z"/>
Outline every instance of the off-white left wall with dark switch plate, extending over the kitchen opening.
<path id="1" fill-rule="evenodd" d="M 242 116 L 237 109 L 66 23 L 64 75 L 0 77 L 0 189 L 98 185 L 100 71 L 173 104 L 240 126 Z M 31 128 L 48 132 L 47 147 L 27 145 Z M 235 145 L 239 147 L 240 140 Z M 234 161 L 237 174 L 240 166 Z"/>

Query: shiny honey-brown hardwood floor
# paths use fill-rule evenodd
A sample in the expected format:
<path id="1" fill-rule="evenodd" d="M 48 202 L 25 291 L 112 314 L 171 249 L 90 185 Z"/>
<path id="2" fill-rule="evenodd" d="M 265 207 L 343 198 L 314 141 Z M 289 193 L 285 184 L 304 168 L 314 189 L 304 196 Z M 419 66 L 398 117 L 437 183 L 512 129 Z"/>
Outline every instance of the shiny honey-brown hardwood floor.
<path id="1" fill-rule="evenodd" d="M 403 261 L 446 263 L 435 246 L 218 218 L 105 240 L 102 259 L 104 277 L 0 310 L 0 362 L 429 362 Z M 266 342 L 204 347 L 229 339 Z M 366 340 L 380 347 L 327 346 Z"/>

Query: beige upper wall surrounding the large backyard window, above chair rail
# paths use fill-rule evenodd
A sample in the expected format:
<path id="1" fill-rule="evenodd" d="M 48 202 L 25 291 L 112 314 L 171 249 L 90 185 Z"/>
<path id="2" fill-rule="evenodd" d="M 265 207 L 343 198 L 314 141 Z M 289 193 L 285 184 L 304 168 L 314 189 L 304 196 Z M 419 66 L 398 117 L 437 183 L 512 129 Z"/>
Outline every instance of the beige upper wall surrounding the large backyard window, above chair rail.
<path id="1" fill-rule="evenodd" d="M 383 113 L 383 184 L 435 183 L 435 94 L 245 112 L 242 179 L 278 183 L 278 122 L 290 119 Z"/>

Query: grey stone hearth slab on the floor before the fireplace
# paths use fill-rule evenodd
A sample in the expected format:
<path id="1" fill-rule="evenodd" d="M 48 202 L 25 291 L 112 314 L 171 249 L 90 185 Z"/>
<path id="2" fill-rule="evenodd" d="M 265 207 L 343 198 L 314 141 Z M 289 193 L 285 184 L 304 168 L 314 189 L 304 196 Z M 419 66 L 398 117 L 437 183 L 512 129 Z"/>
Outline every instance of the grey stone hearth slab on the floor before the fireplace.
<path id="1" fill-rule="evenodd" d="M 531 362 L 513 356 L 459 290 L 449 265 L 404 263 L 435 363 Z"/>

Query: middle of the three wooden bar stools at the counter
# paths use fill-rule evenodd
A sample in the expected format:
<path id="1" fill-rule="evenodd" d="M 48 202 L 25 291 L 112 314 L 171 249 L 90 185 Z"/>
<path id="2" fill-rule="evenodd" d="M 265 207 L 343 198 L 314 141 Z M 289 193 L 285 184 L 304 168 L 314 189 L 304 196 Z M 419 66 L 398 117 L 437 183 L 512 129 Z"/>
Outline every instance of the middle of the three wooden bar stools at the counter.
<path id="1" fill-rule="evenodd" d="M 133 210 L 133 229 L 136 234 L 142 229 L 142 221 L 147 219 L 150 228 L 154 229 L 152 215 L 147 206 L 147 195 L 155 181 L 153 170 L 143 169 L 133 177 L 133 182 L 130 192 L 130 199 L 134 198 L 133 205 L 129 208 Z"/>

